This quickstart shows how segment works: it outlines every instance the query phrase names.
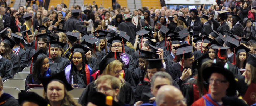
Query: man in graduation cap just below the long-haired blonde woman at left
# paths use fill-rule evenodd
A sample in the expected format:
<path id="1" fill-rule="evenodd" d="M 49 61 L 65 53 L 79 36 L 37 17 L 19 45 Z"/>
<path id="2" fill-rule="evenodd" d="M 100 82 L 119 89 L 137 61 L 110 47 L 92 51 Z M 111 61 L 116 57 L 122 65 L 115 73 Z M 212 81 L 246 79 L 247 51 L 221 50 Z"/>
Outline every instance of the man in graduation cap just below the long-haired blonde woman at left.
<path id="1" fill-rule="evenodd" d="M 35 40 L 33 40 L 33 33 L 31 32 L 31 29 L 25 30 L 21 32 L 21 34 L 25 38 L 23 41 L 21 41 L 24 48 L 28 49 L 29 51 L 35 49 Z"/>

